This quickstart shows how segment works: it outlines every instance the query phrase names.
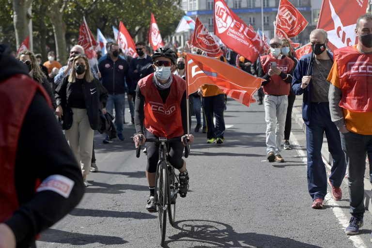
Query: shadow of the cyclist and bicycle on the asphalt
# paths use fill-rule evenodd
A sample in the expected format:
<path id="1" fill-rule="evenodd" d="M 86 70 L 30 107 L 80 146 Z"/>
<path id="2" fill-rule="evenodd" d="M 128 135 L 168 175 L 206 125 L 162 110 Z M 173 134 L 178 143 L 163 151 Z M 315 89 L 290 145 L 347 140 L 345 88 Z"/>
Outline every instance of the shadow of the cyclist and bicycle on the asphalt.
<path id="1" fill-rule="evenodd" d="M 174 228 L 181 232 L 169 237 L 165 247 L 264 247 L 264 248 L 320 248 L 290 238 L 282 238 L 260 233 L 236 233 L 233 227 L 210 220 L 177 221 Z M 191 242 L 190 242 L 191 241 Z M 174 243 L 174 244 L 173 244 Z"/>

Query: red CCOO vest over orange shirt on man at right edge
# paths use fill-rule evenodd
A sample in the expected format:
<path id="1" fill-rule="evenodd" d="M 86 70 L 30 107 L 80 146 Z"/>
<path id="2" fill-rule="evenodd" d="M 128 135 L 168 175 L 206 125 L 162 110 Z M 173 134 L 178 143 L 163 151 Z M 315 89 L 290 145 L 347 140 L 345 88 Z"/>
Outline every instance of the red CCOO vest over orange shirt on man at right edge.
<path id="1" fill-rule="evenodd" d="M 372 112 L 372 54 L 355 47 L 335 51 L 342 98 L 339 106 L 355 112 Z"/>

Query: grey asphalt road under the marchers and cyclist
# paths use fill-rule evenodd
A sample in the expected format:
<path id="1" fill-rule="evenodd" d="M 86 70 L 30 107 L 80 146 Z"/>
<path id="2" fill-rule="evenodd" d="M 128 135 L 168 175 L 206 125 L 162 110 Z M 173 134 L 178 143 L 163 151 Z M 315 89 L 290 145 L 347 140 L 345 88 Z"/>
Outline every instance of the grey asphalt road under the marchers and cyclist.
<path id="1" fill-rule="evenodd" d="M 130 120 L 128 113 L 125 117 Z M 282 151 L 286 162 L 268 163 L 262 105 L 247 108 L 230 100 L 225 122 L 222 145 L 206 144 L 205 134 L 194 134 L 186 159 L 190 189 L 186 198 L 177 198 L 176 223 L 167 227 L 165 247 L 372 246 L 370 213 L 360 235 L 344 233 L 350 218 L 345 183 L 341 201 L 328 194 L 324 209 L 310 207 L 305 137 L 298 125 L 292 128 L 295 149 Z M 42 233 L 39 248 L 159 247 L 157 215 L 145 210 L 146 155 L 136 158 L 129 139 L 134 126 L 124 129 L 126 141 L 103 144 L 103 136 L 95 136 L 100 171 L 88 175 L 89 187 L 77 208 Z"/>

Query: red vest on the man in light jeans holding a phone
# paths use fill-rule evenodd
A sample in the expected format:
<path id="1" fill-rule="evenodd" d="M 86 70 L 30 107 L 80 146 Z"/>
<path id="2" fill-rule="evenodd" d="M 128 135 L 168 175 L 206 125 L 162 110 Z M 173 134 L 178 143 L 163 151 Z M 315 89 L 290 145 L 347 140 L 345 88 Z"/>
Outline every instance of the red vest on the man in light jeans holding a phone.
<path id="1" fill-rule="evenodd" d="M 278 60 L 271 53 L 260 57 L 262 64 L 263 73 L 268 73 L 271 69 L 271 62 L 277 62 L 277 67 L 284 73 L 289 73 L 293 66 L 294 62 L 287 56 L 284 59 Z M 263 92 L 270 95 L 288 95 L 291 84 L 284 82 L 279 75 L 274 74 L 270 77 L 270 81 L 263 85 Z"/>

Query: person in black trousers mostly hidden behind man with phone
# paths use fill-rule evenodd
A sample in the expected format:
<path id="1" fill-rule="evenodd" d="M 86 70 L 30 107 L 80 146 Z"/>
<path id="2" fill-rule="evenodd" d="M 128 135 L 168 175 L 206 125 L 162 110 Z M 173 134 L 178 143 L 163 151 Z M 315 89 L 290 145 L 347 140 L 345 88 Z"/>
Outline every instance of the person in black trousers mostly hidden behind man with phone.
<path id="1" fill-rule="evenodd" d="M 287 39 L 281 39 L 281 55 L 282 56 L 288 56 L 288 58 L 292 59 L 294 61 L 294 68 L 296 68 L 297 65 L 297 58 L 295 57 L 291 45 Z M 285 118 L 285 127 L 284 127 L 284 150 L 291 150 L 291 144 L 289 143 L 289 136 L 291 135 L 291 129 L 292 129 L 292 109 L 294 100 L 296 99 L 296 95 L 292 91 L 292 87 L 289 91 L 288 95 L 288 109 L 287 109 L 287 116 Z"/>

